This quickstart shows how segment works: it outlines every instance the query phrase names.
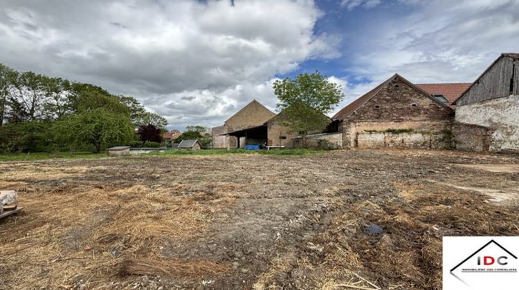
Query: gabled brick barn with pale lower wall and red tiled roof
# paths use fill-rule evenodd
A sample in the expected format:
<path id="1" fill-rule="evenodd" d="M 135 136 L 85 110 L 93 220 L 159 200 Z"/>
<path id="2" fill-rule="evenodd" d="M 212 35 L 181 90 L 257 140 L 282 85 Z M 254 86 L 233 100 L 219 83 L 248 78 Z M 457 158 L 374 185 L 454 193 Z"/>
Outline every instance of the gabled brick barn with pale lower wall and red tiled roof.
<path id="1" fill-rule="evenodd" d="M 449 147 L 453 84 L 421 86 L 396 74 L 340 110 L 343 148 Z"/>

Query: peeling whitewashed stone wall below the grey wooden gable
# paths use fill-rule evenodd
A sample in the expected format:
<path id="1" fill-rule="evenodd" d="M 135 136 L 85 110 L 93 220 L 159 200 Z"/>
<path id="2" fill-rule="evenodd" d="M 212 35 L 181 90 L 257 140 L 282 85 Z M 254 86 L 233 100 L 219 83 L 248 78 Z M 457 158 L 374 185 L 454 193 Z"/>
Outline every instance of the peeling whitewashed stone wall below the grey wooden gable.
<path id="1" fill-rule="evenodd" d="M 493 131 L 489 151 L 519 152 L 519 95 L 457 106 L 455 120 Z"/>

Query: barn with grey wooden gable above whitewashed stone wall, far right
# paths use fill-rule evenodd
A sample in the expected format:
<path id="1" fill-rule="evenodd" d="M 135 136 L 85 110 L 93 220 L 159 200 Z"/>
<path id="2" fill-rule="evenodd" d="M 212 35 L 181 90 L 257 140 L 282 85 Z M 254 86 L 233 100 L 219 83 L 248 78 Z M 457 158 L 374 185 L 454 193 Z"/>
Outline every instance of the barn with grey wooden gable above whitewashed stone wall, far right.
<path id="1" fill-rule="evenodd" d="M 519 53 L 504 53 L 455 101 L 464 150 L 519 152 Z"/>

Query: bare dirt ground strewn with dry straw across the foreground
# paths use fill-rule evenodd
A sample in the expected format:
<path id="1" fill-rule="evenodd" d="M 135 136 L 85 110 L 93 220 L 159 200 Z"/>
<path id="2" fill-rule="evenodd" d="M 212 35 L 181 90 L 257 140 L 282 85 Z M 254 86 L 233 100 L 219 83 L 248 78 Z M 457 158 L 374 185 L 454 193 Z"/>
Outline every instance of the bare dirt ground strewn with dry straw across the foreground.
<path id="1" fill-rule="evenodd" d="M 0 289 L 441 289 L 441 237 L 519 235 L 514 155 L 0 163 Z M 496 168 L 498 168 L 496 170 Z"/>

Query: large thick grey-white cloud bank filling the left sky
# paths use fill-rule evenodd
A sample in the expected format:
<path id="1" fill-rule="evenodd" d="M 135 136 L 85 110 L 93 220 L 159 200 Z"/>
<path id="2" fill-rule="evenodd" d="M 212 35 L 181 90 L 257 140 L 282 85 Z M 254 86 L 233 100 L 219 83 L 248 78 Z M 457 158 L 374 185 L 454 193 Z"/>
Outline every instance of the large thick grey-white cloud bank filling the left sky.
<path id="1" fill-rule="evenodd" d="M 312 0 L 2 2 L 0 62 L 135 95 L 179 126 L 264 101 L 254 94 L 273 75 L 340 55 L 336 36 L 313 34 Z"/>

